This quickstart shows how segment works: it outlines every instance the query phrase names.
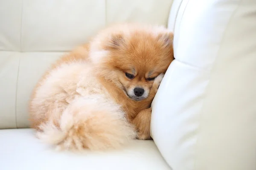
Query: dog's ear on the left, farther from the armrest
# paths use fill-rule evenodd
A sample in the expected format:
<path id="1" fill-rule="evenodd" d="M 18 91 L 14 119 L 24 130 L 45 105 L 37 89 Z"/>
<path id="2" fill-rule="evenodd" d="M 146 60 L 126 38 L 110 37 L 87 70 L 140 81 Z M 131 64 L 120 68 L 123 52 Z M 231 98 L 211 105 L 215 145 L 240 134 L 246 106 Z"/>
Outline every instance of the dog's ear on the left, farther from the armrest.
<path id="1" fill-rule="evenodd" d="M 122 34 L 112 34 L 107 43 L 107 48 L 117 50 L 123 45 L 125 45 L 124 36 Z"/>

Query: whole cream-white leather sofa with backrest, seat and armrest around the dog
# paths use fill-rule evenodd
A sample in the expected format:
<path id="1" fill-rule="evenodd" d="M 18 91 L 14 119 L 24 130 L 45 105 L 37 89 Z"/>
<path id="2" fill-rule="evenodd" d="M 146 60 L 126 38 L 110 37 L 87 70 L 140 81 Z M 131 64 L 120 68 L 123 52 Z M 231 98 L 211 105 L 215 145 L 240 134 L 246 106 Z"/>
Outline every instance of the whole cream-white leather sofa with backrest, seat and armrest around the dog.
<path id="1" fill-rule="evenodd" d="M 35 83 L 112 23 L 174 31 L 151 136 L 122 150 L 58 152 L 29 129 Z M 256 170 L 255 0 L 0 0 L 0 170 Z"/>

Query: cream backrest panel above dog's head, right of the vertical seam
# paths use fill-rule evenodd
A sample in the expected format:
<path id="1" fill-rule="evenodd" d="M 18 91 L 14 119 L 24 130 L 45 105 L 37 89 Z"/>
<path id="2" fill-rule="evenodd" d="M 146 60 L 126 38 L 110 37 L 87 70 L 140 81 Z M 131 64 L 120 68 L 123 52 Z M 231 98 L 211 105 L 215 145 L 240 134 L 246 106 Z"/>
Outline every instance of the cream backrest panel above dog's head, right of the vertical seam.
<path id="1" fill-rule="evenodd" d="M 107 0 L 106 22 L 143 22 L 166 25 L 172 0 Z"/>

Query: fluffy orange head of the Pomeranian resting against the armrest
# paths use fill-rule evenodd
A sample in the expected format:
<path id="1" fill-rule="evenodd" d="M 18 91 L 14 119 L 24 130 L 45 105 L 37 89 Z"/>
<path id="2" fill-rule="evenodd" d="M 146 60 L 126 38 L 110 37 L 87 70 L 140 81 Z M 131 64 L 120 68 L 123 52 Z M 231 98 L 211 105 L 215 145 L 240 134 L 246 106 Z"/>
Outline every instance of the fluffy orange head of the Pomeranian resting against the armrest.
<path id="1" fill-rule="evenodd" d="M 120 25 L 96 37 L 90 59 L 98 74 L 140 101 L 148 97 L 154 79 L 174 59 L 172 41 L 172 32 L 163 27 Z"/>

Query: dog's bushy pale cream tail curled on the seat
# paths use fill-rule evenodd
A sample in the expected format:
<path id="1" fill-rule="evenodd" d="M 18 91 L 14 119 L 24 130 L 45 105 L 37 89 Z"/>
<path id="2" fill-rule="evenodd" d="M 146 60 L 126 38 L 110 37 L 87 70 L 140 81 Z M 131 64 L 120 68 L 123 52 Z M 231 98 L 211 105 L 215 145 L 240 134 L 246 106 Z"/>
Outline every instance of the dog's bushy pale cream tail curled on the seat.
<path id="1" fill-rule="evenodd" d="M 59 113 L 51 115 L 47 123 L 40 125 L 37 136 L 58 149 L 116 149 L 136 137 L 119 106 L 102 97 L 75 99 L 60 117 L 56 117 Z"/>

